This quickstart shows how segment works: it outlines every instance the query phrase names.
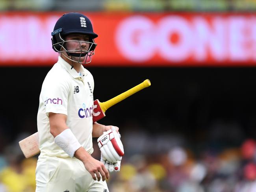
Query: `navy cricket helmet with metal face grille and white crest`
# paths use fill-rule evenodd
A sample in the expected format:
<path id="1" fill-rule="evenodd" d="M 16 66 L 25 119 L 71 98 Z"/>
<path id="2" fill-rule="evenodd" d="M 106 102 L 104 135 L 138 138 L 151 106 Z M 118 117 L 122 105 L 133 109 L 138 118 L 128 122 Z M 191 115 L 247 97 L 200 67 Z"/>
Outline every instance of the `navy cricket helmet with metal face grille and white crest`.
<path id="1" fill-rule="evenodd" d="M 89 41 L 66 41 L 65 37 L 69 34 L 87 35 Z M 98 37 L 98 35 L 93 32 L 93 26 L 89 18 L 81 13 L 67 13 L 60 17 L 54 26 L 54 31 L 52 32 L 52 48 L 54 51 L 67 57 L 70 61 L 82 64 L 90 63 L 91 56 L 95 54 L 97 44 L 94 42 L 94 38 L 96 37 Z M 78 42 L 80 49 L 68 50 L 66 45 L 69 42 Z M 82 48 L 82 43 L 89 44 L 88 50 Z M 64 54 L 65 52 L 66 54 Z M 76 57 L 76 60 L 74 60 L 73 57 Z"/>

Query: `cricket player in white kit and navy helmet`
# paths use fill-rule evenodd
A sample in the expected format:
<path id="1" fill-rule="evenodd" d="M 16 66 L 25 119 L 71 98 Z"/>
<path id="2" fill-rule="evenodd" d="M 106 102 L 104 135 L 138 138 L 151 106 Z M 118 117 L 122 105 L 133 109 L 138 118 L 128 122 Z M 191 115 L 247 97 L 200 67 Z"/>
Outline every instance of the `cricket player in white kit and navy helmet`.
<path id="1" fill-rule="evenodd" d="M 96 37 L 91 21 L 80 13 L 64 14 L 52 32 L 59 57 L 39 98 L 36 192 L 109 192 L 109 171 L 120 170 L 119 128 L 93 123 L 94 80 L 82 65 L 91 62 Z M 98 137 L 101 161 L 91 157 L 92 137 Z"/>

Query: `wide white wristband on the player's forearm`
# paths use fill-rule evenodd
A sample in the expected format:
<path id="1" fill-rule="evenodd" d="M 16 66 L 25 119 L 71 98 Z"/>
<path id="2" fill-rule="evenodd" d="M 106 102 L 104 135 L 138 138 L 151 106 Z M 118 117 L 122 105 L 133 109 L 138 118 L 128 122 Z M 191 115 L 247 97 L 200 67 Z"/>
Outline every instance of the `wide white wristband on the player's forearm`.
<path id="1" fill-rule="evenodd" d="M 74 157 L 76 150 L 82 147 L 70 129 L 65 129 L 57 135 L 54 142 L 63 149 L 69 157 Z"/>

